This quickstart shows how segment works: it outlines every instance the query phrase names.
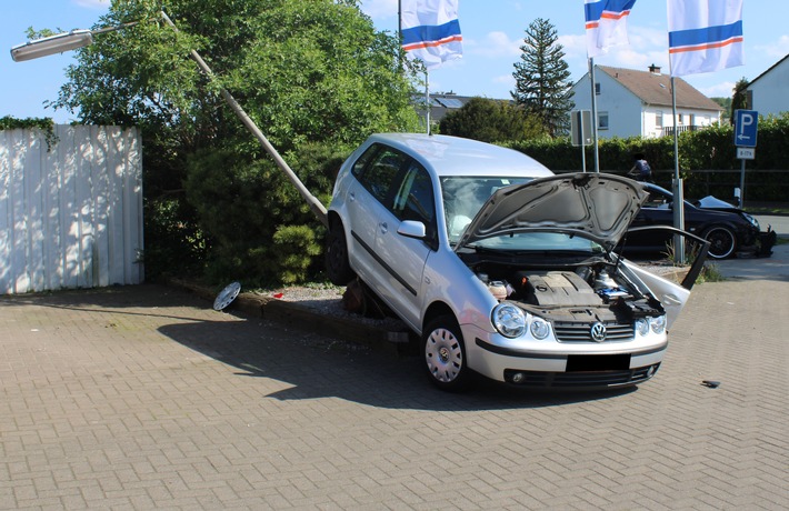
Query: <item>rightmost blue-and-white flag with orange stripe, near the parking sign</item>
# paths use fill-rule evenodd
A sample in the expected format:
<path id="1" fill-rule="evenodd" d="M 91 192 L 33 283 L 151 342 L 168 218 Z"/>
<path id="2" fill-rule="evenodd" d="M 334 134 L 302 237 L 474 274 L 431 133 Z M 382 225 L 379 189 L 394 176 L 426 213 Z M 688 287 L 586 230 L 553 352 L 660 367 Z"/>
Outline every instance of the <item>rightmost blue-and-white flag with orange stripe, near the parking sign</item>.
<path id="1" fill-rule="evenodd" d="M 742 0 L 669 0 L 671 76 L 745 63 Z"/>

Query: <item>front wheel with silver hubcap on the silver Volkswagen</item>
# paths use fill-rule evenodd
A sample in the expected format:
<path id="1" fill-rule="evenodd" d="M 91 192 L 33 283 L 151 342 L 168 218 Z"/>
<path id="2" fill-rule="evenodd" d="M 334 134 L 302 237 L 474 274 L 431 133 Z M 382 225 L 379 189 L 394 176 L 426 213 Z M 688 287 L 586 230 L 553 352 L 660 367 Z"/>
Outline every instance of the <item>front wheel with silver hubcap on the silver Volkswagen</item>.
<path id="1" fill-rule="evenodd" d="M 436 387 L 448 392 L 468 389 L 471 370 L 455 317 L 441 315 L 428 323 L 422 332 L 422 353 L 428 378 Z"/>

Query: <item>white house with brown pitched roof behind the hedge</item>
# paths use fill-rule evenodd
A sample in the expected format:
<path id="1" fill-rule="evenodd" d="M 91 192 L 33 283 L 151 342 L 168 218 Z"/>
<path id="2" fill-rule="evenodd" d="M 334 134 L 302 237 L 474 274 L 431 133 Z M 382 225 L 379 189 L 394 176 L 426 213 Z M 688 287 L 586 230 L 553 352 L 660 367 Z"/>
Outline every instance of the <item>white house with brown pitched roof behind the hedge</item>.
<path id="1" fill-rule="evenodd" d="M 722 109 L 688 82 L 675 78 L 677 126 L 692 131 L 720 121 Z M 572 86 L 577 110 L 591 110 L 589 73 Z M 656 138 L 673 133 L 671 78 L 660 68 L 649 71 L 595 67 L 598 136 L 605 138 Z"/>

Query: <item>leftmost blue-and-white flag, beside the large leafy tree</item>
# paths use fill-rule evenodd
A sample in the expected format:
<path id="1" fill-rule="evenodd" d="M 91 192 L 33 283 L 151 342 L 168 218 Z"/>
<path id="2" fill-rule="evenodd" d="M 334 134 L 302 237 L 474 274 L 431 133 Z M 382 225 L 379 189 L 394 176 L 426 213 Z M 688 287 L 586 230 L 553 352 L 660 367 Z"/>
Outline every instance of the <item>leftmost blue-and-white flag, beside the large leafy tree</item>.
<path id="1" fill-rule="evenodd" d="M 400 0 L 402 48 L 428 69 L 463 54 L 458 0 Z"/>

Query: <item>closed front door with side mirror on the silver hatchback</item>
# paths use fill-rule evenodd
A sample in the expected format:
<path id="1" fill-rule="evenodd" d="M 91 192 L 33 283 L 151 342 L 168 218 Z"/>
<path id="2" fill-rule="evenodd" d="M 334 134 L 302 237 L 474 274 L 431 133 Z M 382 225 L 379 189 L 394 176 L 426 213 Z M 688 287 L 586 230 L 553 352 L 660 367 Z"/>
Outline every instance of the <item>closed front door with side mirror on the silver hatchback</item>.
<path id="1" fill-rule="evenodd" d="M 415 329 L 421 323 L 425 264 L 438 246 L 435 187 L 418 162 L 410 160 L 394 183 L 376 237 L 376 259 L 381 280 L 377 289 L 398 314 Z M 402 222 L 420 222 L 423 238 L 400 232 Z"/>

